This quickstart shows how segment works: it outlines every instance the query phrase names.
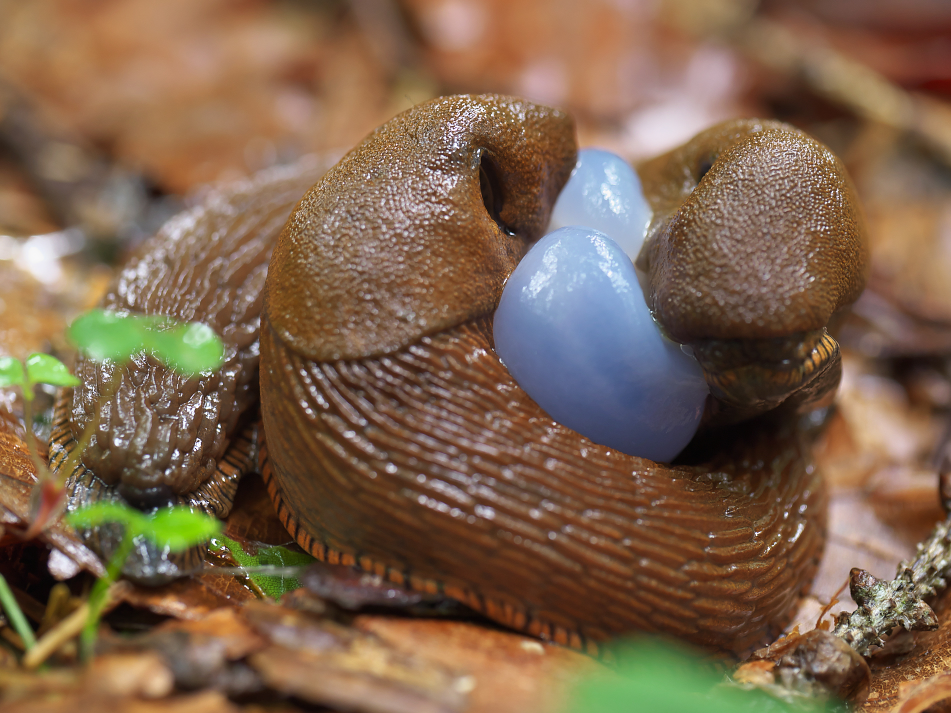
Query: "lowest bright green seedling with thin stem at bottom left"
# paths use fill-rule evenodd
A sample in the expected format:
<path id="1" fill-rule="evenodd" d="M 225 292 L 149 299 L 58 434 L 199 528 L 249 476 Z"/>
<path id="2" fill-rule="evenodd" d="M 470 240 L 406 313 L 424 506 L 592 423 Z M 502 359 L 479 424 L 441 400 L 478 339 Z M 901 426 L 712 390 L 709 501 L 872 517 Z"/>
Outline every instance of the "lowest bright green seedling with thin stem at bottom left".
<path id="1" fill-rule="evenodd" d="M 117 523 L 123 528 L 122 541 L 106 565 L 106 575 L 96 580 L 89 593 L 89 618 L 80 638 L 85 657 L 92 653 L 96 641 L 106 590 L 118 579 L 137 537 L 145 538 L 157 547 L 168 548 L 170 552 L 181 552 L 221 533 L 221 522 L 187 507 L 163 508 L 146 515 L 121 503 L 98 502 L 69 513 L 66 521 L 77 528 L 99 527 L 107 523 Z"/>

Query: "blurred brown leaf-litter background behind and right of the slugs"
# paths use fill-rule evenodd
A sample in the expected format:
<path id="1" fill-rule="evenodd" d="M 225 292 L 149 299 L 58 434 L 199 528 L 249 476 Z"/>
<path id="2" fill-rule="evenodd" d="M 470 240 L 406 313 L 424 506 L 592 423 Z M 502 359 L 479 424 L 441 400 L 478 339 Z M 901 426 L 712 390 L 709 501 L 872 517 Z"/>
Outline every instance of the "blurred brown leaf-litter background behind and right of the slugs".
<path id="1" fill-rule="evenodd" d="M 61 350 L 115 262 L 209 183 L 490 91 L 631 160 L 737 116 L 842 157 L 873 269 L 817 451 L 841 555 L 817 601 L 850 566 L 891 576 L 949 469 L 947 0 L 0 0 L 0 352 Z"/>

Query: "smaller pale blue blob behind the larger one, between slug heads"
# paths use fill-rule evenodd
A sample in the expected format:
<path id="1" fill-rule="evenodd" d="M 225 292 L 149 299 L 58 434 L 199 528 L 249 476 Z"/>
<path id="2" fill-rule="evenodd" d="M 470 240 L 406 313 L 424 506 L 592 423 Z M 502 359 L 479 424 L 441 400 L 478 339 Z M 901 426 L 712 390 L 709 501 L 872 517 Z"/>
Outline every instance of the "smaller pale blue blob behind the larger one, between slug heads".
<path id="1" fill-rule="evenodd" d="M 571 225 L 600 230 L 634 260 L 650 218 L 651 209 L 634 169 L 609 151 L 583 149 L 555 202 L 548 230 Z"/>

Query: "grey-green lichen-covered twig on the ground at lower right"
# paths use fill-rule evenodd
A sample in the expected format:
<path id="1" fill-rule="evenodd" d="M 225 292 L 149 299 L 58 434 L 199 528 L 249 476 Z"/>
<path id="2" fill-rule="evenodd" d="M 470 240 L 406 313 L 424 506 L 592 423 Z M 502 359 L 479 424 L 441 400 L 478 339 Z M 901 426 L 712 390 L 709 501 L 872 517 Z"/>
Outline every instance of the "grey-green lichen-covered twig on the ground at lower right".
<path id="1" fill-rule="evenodd" d="M 877 579 L 862 569 L 853 569 L 850 591 L 858 607 L 839 614 L 833 634 L 863 656 L 871 646 L 882 646 L 895 627 L 908 631 L 938 628 L 938 618 L 925 599 L 944 589 L 951 571 L 951 518 L 939 524 L 918 545 L 910 562 L 898 566 L 895 579 Z"/>

